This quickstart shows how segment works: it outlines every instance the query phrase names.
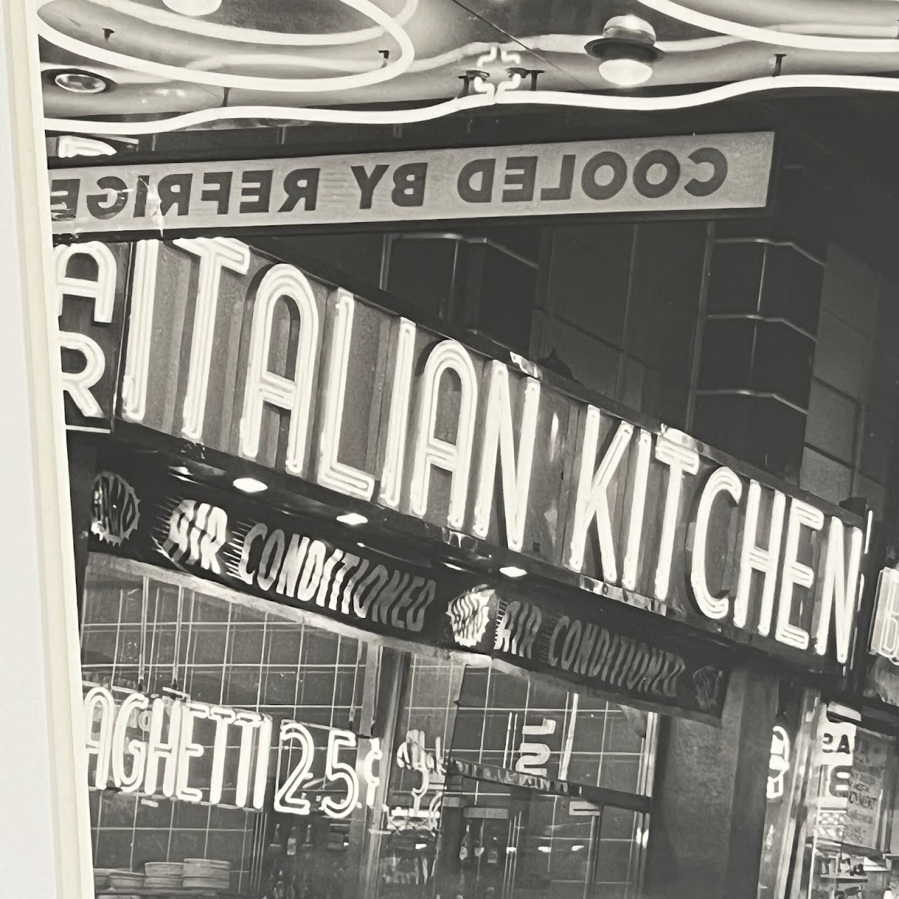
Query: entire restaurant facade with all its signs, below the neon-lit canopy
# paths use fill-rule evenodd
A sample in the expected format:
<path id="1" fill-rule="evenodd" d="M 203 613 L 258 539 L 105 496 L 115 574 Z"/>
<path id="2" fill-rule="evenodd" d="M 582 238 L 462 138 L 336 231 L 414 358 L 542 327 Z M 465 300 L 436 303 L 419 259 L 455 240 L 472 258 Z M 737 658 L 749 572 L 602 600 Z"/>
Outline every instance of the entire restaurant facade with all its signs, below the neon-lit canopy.
<path id="1" fill-rule="evenodd" d="M 821 129 L 51 158 L 98 893 L 887 895 L 896 223 Z"/>

